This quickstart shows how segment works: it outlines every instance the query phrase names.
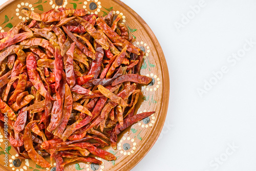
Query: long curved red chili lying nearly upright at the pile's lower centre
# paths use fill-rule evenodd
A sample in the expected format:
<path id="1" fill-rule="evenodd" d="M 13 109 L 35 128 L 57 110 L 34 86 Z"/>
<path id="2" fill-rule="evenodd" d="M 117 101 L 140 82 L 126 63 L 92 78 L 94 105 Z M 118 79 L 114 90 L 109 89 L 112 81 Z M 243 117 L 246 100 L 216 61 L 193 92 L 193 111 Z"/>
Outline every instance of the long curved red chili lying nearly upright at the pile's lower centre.
<path id="1" fill-rule="evenodd" d="M 61 137 L 62 133 L 64 132 L 72 112 L 72 106 L 73 106 L 72 94 L 68 84 L 65 84 L 65 101 L 63 105 L 63 112 L 60 118 L 60 124 L 57 126 L 54 132 L 55 136 Z"/>

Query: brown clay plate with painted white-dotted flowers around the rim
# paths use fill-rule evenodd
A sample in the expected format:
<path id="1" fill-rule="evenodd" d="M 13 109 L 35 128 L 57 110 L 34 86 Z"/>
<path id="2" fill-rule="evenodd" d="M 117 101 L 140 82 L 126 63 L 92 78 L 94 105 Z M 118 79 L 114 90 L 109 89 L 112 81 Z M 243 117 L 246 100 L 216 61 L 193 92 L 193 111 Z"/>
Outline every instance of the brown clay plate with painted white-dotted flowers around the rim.
<path id="1" fill-rule="evenodd" d="M 156 111 L 150 117 L 133 124 L 118 136 L 118 146 L 104 149 L 117 157 L 116 161 L 103 161 L 103 164 L 90 164 L 74 162 L 65 167 L 65 170 L 130 170 L 152 148 L 156 142 L 165 120 L 169 99 L 169 76 L 162 49 L 152 30 L 144 20 L 131 8 L 117 0 L 14 0 L 2 5 L 0 13 L 0 31 L 6 32 L 21 20 L 29 19 L 22 14 L 22 9 L 42 13 L 54 8 L 70 7 L 87 9 L 91 14 L 104 15 L 112 9 L 115 14 L 121 14 L 121 23 L 129 29 L 130 34 L 136 38 L 134 45 L 145 52 L 141 75 L 150 76 L 153 81 L 148 86 L 141 87 L 143 95 L 140 96 L 136 113 Z M 8 144 L 7 144 L 8 143 Z M 5 155 L 5 149 L 7 149 Z M 32 160 L 19 160 L 16 152 L 0 135 L 0 168 L 15 171 L 55 170 L 56 163 L 51 168 L 41 168 Z"/>

